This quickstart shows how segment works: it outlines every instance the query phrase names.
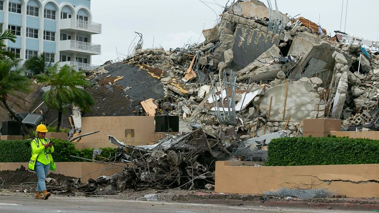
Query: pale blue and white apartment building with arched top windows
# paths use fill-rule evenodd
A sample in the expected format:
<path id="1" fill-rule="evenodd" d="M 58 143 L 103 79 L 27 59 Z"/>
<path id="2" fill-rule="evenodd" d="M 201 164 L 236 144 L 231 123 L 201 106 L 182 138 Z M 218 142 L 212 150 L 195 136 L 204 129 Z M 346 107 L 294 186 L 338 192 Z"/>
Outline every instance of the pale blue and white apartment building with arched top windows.
<path id="1" fill-rule="evenodd" d="M 10 51 L 28 59 L 45 53 L 46 61 L 89 70 L 91 56 L 101 54 L 92 35 L 101 24 L 92 22 L 90 0 L 0 0 L 0 27 L 17 36 Z"/>

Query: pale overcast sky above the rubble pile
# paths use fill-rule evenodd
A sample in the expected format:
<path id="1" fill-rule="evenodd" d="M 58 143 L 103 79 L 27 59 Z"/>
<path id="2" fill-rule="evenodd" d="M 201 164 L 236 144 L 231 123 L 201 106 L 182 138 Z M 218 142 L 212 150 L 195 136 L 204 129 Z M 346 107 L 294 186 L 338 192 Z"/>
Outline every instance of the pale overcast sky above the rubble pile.
<path id="1" fill-rule="evenodd" d="M 341 31 L 344 30 L 346 1 Z M 274 5 L 274 0 L 271 2 Z M 342 0 L 277 2 L 281 12 L 291 16 L 300 14 L 319 23 L 332 36 L 333 31 L 340 30 Z M 102 54 L 92 56 L 92 64 L 115 60 L 117 54 L 125 57 L 136 36 L 134 32 L 143 34 L 143 48 L 169 49 L 201 42 L 204 40 L 202 29 L 215 25 L 226 3 L 227 0 L 91 0 L 93 22 L 102 24 L 102 34 L 92 37 L 93 43 L 102 45 Z M 348 0 L 346 33 L 378 40 L 378 9 L 379 0 Z"/>

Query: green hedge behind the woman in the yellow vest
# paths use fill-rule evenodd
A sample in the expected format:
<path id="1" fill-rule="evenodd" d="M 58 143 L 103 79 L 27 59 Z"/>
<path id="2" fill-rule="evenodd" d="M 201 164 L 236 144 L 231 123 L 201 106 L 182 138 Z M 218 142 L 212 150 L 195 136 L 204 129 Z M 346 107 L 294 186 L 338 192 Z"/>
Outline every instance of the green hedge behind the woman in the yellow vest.
<path id="1" fill-rule="evenodd" d="M 31 140 L 22 141 L 0 141 L 0 162 L 28 162 L 32 156 L 30 147 Z M 92 159 L 92 150 L 89 148 L 76 149 L 74 143 L 59 139 L 52 139 L 54 152 L 52 153 L 55 162 L 78 162 L 85 161 L 78 158 L 70 157 L 70 155 Z M 103 160 L 110 156 L 114 156 L 115 149 L 101 148 L 103 152 L 96 160 Z"/>

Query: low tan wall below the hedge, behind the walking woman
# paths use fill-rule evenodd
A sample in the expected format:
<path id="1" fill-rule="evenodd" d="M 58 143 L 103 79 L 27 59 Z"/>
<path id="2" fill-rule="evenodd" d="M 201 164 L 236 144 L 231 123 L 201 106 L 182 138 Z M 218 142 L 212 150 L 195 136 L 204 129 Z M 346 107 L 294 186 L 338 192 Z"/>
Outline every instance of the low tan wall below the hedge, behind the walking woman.
<path id="1" fill-rule="evenodd" d="M 16 169 L 19 169 L 21 165 L 23 165 L 25 168 L 28 168 L 28 163 L 0 163 L 0 171 L 15 171 Z M 118 165 L 124 166 L 123 164 Z M 119 166 L 112 165 L 110 167 L 109 164 L 93 162 L 55 162 L 55 166 L 56 171 L 54 173 L 75 178 L 81 178 L 81 182 L 87 182 L 89 178 L 96 179 L 102 175 L 110 176 L 114 173 L 121 172 L 123 169 Z M 109 169 L 106 170 L 107 168 Z"/>

